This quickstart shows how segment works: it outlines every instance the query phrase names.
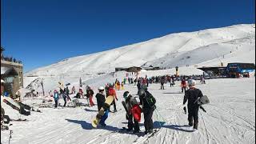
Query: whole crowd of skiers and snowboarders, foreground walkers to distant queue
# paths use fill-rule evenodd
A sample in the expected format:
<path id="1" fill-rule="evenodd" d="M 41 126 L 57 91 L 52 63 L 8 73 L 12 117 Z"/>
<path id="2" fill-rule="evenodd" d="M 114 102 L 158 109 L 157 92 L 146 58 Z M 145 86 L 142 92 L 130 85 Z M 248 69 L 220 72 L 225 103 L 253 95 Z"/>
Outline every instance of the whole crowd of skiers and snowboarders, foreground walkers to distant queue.
<path id="1" fill-rule="evenodd" d="M 140 131 L 138 122 L 140 122 L 140 113 L 143 113 L 144 115 L 144 126 L 145 126 L 145 134 L 150 134 L 153 132 L 154 125 L 153 125 L 153 113 L 156 109 L 156 99 L 154 98 L 153 94 L 150 94 L 148 91 L 148 86 L 152 83 L 154 84 L 160 84 L 160 89 L 165 90 L 164 85 L 166 83 L 170 83 L 170 87 L 174 86 L 175 83 L 180 82 L 180 86 L 182 89 L 182 93 L 185 93 L 183 104 L 185 105 L 186 101 L 188 101 L 187 107 L 188 107 L 188 123 L 189 126 L 193 126 L 194 130 L 198 129 L 198 108 L 199 106 L 194 103 L 194 101 L 198 98 L 202 97 L 202 91 L 195 88 L 195 81 L 193 76 L 182 76 L 182 77 L 176 77 L 174 75 L 162 75 L 162 76 L 153 76 L 148 78 L 147 76 L 145 78 L 123 78 L 120 82 L 118 78 L 113 83 L 107 83 L 104 86 L 99 86 L 98 91 L 95 94 L 98 111 L 101 110 L 102 107 L 104 107 L 104 103 L 106 102 L 106 98 L 108 97 L 114 97 L 113 102 L 110 104 L 110 107 L 105 110 L 104 119 L 99 122 L 100 125 L 106 126 L 105 120 L 108 117 L 109 112 L 117 112 L 117 106 L 116 102 L 118 102 L 118 96 L 116 94 L 116 90 L 124 90 L 124 85 L 128 84 L 134 84 L 137 85 L 138 88 L 138 97 L 139 102 L 137 102 L 136 98 L 132 94 L 130 94 L 129 91 L 125 91 L 123 93 L 124 102 L 126 105 L 126 119 L 127 119 L 127 131 L 133 130 L 134 133 L 138 133 Z M 128 82 L 128 83 L 127 83 Z M 205 78 L 203 75 L 200 76 L 200 82 L 206 83 Z M 62 90 L 54 90 L 54 102 L 55 102 L 55 108 L 58 107 L 58 100 L 60 98 L 63 98 L 64 100 L 64 107 L 66 106 L 66 101 L 71 100 L 69 94 L 76 94 L 74 98 L 86 98 L 89 106 L 95 106 L 93 102 L 94 98 L 94 90 L 91 89 L 90 86 L 86 86 L 86 94 L 84 94 L 82 90 L 82 86 L 79 87 L 79 90 L 76 93 L 76 90 L 74 86 L 71 89 L 71 92 L 66 86 Z M 114 108 L 111 108 L 113 106 Z M 112 110 L 110 110 L 112 109 Z M 134 111 L 135 110 L 135 111 Z M 138 115 L 134 115 L 138 113 Z"/>

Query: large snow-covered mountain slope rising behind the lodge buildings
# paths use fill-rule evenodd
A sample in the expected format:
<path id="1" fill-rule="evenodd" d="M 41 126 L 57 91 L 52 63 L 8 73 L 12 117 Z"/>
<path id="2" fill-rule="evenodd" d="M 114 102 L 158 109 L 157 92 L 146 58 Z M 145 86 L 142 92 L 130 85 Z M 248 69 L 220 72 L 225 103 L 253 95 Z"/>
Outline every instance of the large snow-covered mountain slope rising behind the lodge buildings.
<path id="1" fill-rule="evenodd" d="M 76 77 L 82 74 L 109 73 L 115 67 L 186 65 L 219 66 L 220 62 L 255 61 L 255 24 L 235 25 L 169 34 L 146 42 L 122 46 L 95 54 L 67 58 L 32 70 L 26 75 Z"/>

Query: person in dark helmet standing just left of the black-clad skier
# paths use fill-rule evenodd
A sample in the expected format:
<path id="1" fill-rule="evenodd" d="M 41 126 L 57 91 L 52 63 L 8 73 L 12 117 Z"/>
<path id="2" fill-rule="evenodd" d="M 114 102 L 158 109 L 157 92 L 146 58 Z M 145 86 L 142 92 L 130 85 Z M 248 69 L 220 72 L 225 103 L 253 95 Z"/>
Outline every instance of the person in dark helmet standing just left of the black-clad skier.
<path id="1" fill-rule="evenodd" d="M 135 104 L 138 104 L 137 100 L 130 94 L 129 91 L 126 91 L 123 94 L 123 98 L 126 99 L 126 108 L 128 110 L 128 113 L 126 113 L 126 119 L 128 120 L 128 129 L 127 131 L 133 130 L 134 129 L 134 133 L 138 133 L 139 130 L 139 126 L 138 126 L 138 120 L 136 120 L 132 114 L 132 108 Z M 134 121 L 133 121 L 134 119 Z"/>

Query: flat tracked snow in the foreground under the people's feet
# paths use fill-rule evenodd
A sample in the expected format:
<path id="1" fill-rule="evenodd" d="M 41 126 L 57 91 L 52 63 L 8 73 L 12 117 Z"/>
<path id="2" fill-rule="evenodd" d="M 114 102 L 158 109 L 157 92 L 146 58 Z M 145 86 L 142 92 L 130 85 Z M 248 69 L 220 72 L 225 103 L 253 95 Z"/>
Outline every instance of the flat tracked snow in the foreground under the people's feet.
<path id="1" fill-rule="evenodd" d="M 110 113 L 106 127 L 92 128 L 90 122 L 97 114 L 97 106 L 76 108 L 41 108 L 42 113 L 31 112 L 21 116 L 28 122 L 11 122 L 13 130 L 10 143 L 254 143 L 255 142 L 255 78 L 223 78 L 206 80 L 197 87 L 210 98 L 210 104 L 199 110 L 198 132 L 191 132 L 187 114 L 182 110 L 180 83 L 174 87 L 151 84 L 149 91 L 157 100 L 154 111 L 154 128 L 160 129 L 153 137 L 144 136 L 143 117 L 139 134 L 126 133 L 126 112 L 122 107 L 122 94 L 117 90 L 117 113 Z M 126 85 L 126 90 L 136 96 L 137 88 Z M 97 92 L 97 91 L 95 91 Z M 86 103 L 86 99 L 79 99 Z M 42 103 L 42 100 L 27 99 L 25 103 Z M 96 99 L 94 98 L 94 102 Z M 63 104 L 63 101 L 61 101 Z M 54 104 L 54 102 L 52 102 Z M 113 106 L 110 110 L 113 110 Z M 6 114 L 8 114 L 6 112 Z M 10 113 L 10 117 L 17 114 Z M 1 131 L 1 142 L 8 143 L 10 131 Z"/>

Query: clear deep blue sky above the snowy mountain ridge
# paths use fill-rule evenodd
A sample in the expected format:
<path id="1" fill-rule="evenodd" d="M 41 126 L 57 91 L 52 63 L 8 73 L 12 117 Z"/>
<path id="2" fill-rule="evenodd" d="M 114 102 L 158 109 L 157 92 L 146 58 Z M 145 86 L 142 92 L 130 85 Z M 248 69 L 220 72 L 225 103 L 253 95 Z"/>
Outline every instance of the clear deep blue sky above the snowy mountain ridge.
<path id="1" fill-rule="evenodd" d="M 254 0 L 1 0 L 1 46 L 24 71 L 166 34 L 255 23 Z"/>

